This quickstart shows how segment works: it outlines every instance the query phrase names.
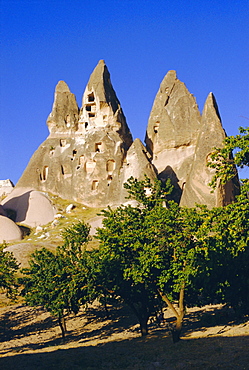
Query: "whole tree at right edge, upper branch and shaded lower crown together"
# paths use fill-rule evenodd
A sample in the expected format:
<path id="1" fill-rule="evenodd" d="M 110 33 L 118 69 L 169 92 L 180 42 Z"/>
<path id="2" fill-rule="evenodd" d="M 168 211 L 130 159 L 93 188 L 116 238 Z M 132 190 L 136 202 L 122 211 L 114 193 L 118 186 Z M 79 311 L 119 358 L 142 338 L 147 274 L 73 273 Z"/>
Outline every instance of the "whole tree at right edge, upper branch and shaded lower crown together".
<path id="1" fill-rule="evenodd" d="M 226 184 L 237 176 L 235 166 L 249 166 L 249 127 L 240 127 L 239 132 L 239 135 L 227 137 L 223 148 L 216 148 L 212 154 L 213 162 L 209 166 L 215 169 L 213 188 L 218 181 Z M 209 254 L 206 269 L 212 285 L 217 288 L 218 299 L 231 304 L 237 312 L 248 313 L 249 179 L 241 181 L 241 195 L 234 203 L 210 211 L 205 223 L 211 232 L 203 242 Z"/>

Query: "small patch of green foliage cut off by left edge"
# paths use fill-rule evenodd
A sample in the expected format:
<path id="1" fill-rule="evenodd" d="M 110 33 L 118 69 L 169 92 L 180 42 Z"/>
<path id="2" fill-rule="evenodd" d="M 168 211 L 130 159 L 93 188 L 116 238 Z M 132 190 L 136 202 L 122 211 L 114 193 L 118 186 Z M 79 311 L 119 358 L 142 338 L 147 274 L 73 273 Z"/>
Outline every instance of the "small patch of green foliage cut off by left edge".
<path id="1" fill-rule="evenodd" d="M 17 280 L 15 273 L 18 270 L 18 263 L 13 253 L 4 251 L 6 244 L 0 244 L 0 289 L 8 298 L 15 298 L 17 293 Z"/>

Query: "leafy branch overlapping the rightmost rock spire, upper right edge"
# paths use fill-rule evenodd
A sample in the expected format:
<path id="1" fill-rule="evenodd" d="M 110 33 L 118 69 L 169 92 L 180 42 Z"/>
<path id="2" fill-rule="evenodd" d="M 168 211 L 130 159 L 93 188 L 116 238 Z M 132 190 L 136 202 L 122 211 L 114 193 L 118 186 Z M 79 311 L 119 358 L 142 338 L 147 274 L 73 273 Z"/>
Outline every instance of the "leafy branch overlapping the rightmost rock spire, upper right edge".
<path id="1" fill-rule="evenodd" d="M 215 189 L 218 181 L 226 184 L 237 176 L 236 166 L 244 168 L 249 166 L 249 127 L 239 127 L 239 135 L 228 136 L 222 148 L 215 148 L 211 154 L 208 166 L 214 168 L 216 173 L 210 183 Z M 234 153 L 232 156 L 231 153 Z M 243 180 L 245 191 L 249 191 L 249 180 Z"/>

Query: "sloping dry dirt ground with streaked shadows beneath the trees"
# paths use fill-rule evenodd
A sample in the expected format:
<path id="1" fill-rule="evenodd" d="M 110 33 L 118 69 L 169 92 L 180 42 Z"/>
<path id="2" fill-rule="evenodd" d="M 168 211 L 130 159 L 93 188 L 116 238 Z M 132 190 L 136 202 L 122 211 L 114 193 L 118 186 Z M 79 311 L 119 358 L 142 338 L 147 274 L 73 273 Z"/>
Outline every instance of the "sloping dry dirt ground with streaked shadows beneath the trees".
<path id="1" fill-rule="evenodd" d="M 167 310 L 164 317 L 169 318 Z M 0 308 L 0 369 L 249 369 L 248 317 L 205 306 L 188 310 L 182 340 L 173 344 L 168 323 L 149 325 L 141 337 L 128 308 L 98 304 L 67 318 L 61 339 L 55 319 L 21 304 Z"/>

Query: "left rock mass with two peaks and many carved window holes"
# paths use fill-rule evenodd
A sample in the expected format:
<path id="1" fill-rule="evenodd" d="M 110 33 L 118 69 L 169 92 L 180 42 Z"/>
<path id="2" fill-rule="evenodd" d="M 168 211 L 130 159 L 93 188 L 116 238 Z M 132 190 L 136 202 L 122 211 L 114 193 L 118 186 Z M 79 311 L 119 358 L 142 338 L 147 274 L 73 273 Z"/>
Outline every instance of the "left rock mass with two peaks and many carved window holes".
<path id="1" fill-rule="evenodd" d="M 17 187 L 103 207 L 125 201 L 127 176 L 156 176 L 142 143 L 131 147 L 132 136 L 102 60 L 86 86 L 80 110 L 66 83 L 58 83 L 47 125 L 50 135 Z M 131 163 L 134 155 L 137 162 Z"/>

